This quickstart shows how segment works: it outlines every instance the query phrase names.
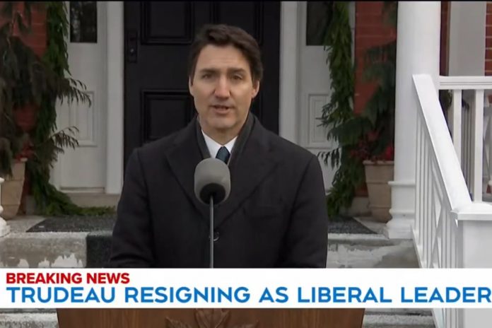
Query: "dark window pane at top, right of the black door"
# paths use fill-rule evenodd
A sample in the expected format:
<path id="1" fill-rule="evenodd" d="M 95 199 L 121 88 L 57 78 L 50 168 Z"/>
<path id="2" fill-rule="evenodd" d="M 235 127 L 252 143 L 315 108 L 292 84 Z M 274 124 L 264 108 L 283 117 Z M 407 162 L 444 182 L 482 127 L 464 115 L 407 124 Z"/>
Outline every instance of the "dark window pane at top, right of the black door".
<path id="1" fill-rule="evenodd" d="M 307 1 L 306 45 L 323 45 L 332 1 Z"/>

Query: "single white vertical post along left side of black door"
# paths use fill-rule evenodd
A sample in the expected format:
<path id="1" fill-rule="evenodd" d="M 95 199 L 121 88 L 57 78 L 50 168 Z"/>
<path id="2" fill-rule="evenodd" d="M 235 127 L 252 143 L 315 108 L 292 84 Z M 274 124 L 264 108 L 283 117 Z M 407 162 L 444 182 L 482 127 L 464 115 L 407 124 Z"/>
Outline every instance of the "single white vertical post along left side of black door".
<path id="1" fill-rule="evenodd" d="M 107 1 L 107 147 L 106 194 L 123 183 L 123 2 Z"/>

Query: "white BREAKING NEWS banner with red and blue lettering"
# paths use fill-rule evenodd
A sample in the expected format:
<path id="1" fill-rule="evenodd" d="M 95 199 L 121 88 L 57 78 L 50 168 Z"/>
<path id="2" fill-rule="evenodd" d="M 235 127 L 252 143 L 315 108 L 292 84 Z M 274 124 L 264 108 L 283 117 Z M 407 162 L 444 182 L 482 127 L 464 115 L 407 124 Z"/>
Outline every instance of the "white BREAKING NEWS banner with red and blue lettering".
<path id="1" fill-rule="evenodd" d="M 0 307 L 492 307 L 490 271 L 0 269 Z M 469 279 L 472 276 L 474 279 Z"/>

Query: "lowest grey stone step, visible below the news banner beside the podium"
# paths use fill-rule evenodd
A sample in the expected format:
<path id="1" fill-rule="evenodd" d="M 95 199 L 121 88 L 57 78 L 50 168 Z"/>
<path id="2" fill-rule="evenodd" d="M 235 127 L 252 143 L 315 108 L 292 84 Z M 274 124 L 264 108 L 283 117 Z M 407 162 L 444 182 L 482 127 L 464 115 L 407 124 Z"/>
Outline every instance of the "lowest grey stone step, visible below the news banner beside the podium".
<path id="1" fill-rule="evenodd" d="M 366 310 L 363 328 L 434 328 L 430 311 Z M 0 310 L 0 328 L 57 328 L 55 310 Z"/>

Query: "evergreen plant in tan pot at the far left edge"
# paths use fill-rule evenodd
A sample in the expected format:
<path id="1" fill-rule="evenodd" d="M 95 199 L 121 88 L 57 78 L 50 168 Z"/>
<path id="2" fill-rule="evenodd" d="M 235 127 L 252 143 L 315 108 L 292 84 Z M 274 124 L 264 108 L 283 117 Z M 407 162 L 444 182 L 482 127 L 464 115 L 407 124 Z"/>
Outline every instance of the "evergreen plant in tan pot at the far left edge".
<path id="1" fill-rule="evenodd" d="M 37 81 L 39 66 L 35 54 L 26 47 L 20 35 L 27 27 L 21 12 L 13 4 L 4 5 L 4 23 L 0 27 L 0 176 L 2 185 L 2 217 L 16 216 L 23 193 L 25 162 L 28 155 L 28 134 L 16 124 L 16 109 L 35 100 L 34 90 L 41 87 Z"/>

